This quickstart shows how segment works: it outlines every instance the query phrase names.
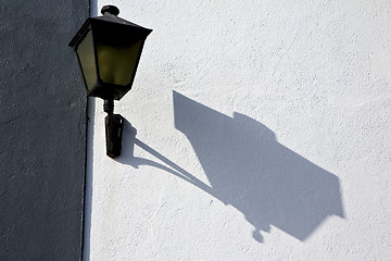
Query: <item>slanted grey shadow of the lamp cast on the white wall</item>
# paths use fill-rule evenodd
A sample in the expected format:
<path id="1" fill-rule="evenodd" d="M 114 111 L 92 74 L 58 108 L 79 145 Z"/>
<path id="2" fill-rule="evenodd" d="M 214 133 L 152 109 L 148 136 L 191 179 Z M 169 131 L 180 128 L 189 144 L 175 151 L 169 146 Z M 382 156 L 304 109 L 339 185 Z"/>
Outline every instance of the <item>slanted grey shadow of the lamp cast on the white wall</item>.
<path id="1" fill-rule="evenodd" d="M 270 225 L 303 241 L 327 216 L 344 217 L 339 178 L 279 144 L 265 125 L 240 113 L 229 117 L 176 91 L 173 99 L 175 127 L 189 139 L 211 186 L 138 140 L 129 123 L 124 137 L 130 135 L 131 148 L 118 161 L 167 171 L 232 206 L 260 243 Z M 169 167 L 135 158 L 134 145 Z"/>

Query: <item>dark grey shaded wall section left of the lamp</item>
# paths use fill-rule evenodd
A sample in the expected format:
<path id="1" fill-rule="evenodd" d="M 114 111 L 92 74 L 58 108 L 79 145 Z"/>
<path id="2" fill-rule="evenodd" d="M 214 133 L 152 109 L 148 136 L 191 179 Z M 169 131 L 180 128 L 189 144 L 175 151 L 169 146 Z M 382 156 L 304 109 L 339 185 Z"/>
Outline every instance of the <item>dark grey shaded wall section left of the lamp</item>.
<path id="1" fill-rule="evenodd" d="M 86 105 L 67 42 L 88 0 L 0 7 L 0 260 L 79 260 Z"/>

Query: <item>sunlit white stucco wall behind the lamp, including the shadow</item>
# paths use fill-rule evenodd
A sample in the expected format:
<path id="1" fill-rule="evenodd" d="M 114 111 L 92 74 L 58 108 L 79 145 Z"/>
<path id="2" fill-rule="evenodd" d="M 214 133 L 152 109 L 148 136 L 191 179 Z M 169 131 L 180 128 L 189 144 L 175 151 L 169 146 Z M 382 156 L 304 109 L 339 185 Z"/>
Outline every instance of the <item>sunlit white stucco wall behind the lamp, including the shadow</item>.
<path id="1" fill-rule="evenodd" d="M 110 3 L 153 33 L 116 160 L 90 100 L 86 259 L 391 259 L 390 1 Z"/>

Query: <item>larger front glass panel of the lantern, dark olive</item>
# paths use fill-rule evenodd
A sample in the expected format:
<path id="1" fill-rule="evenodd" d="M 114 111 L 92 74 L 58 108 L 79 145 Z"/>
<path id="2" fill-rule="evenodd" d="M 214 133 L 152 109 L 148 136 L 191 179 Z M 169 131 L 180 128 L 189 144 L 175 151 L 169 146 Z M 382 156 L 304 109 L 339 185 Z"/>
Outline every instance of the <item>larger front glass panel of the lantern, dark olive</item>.
<path id="1" fill-rule="evenodd" d="M 97 54 L 100 78 L 108 84 L 130 84 L 138 64 L 143 39 L 123 44 L 98 41 Z"/>

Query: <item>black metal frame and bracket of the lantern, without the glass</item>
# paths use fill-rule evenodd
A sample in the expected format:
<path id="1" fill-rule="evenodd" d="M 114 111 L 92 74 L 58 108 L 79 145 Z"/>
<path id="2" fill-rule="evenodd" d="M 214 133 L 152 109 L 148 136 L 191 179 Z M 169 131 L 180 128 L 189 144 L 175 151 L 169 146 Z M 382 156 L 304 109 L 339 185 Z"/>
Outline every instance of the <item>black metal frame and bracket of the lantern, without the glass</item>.
<path id="1" fill-rule="evenodd" d="M 77 51 L 78 45 L 85 39 L 87 34 L 92 30 L 92 45 L 93 45 L 93 55 L 94 55 L 94 67 L 97 73 L 96 84 L 88 89 L 86 75 L 84 74 L 85 85 L 87 87 L 87 94 L 91 97 L 99 97 L 104 100 L 103 110 L 108 113 L 108 116 L 104 120 L 105 123 L 105 141 L 106 141 L 106 154 L 111 158 L 116 158 L 121 154 L 122 150 L 122 135 L 124 126 L 124 117 L 119 114 L 114 114 L 114 100 L 121 100 L 121 98 L 131 89 L 133 82 L 135 79 L 137 66 L 141 55 L 143 41 L 147 36 L 152 32 L 151 29 L 141 27 L 134 23 L 130 23 L 126 20 L 117 17 L 119 10 L 114 5 L 105 5 L 102 8 L 101 13 L 103 16 L 99 17 L 89 17 L 74 36 L 74 38 L 68 44 L 71 47 Z M 112 39 L 115 45 L 117 40 L 122 41 L 133 41 L 134 39 L 142 40 L 140 49 L 136 55 L 135 69 L 131 74 L 129 83 L 126 85 L 117 85 L 113 83 L 105 83 L 101 78 L 99 71 L 99 62 L 97 57 L 97 44 L 96 40 Z M 83 71 L 83 64 L 79 55 L 78 61 Z M 83 71 L 84 72 L 84 71 Z"/>

